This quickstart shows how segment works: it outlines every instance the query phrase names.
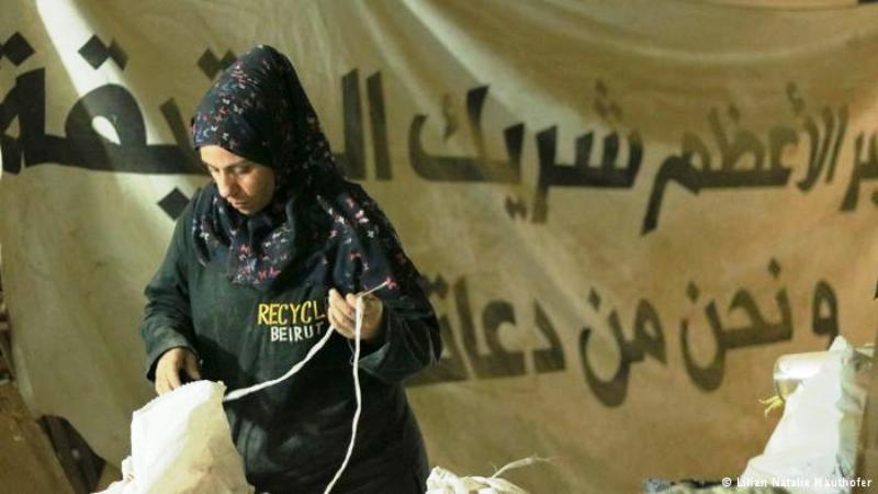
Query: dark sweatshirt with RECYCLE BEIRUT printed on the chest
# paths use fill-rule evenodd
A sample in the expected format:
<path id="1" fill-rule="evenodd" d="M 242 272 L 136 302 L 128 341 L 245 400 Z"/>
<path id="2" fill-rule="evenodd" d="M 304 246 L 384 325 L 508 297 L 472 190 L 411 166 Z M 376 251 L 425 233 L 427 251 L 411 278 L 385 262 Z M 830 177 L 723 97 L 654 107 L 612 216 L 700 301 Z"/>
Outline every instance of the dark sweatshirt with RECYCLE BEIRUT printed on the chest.
<path id="1" fill-rule="evenodd" d="M 362 290 L 338 279 L 337 265 L 348 252 L 333 239 L 300 245 L 299 261 L 268 293 L 233 284 L 219 261 L 199 262 L 188 234 L 191 224 L 192 203 L 178 218 L 165 260 L 145 291 L 140 333 L 150 380 L 159 357 L 175 347 L 193 351 L 202 378 L 229 390 L 278 378 L 327 332 L 329 289 L 342 295 Z M 383 339 L 363 343 L 363 409 L 353 456 L 335 492 L 391 492 L 379 483 L 424 480 L 423 441 L 402 380 L 434 363 L 441 341 L 426 295 L 419 288 L 409 292 L 375 293 L 384 302 Z M 341 464 L 356 409 L 352 348 L 335 334 L 293 378 L 225 405 L 257 492 L 322 493 Z"/>

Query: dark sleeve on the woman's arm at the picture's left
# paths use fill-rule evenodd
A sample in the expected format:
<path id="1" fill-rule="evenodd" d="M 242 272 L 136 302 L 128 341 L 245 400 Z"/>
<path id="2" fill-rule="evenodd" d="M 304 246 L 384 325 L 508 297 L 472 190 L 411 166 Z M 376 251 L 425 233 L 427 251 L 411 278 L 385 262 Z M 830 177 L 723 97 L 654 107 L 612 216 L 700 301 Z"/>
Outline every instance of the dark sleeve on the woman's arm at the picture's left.
<path id="1" fill-rule="evenodd" d="M 188 348 L 198 356 L 189 304 L 185 247 L 191 207 L 192 202 L 178 218 L 165 260 L 144 291 L 147 302 L 140 336 L 146 344 L 146 378 L 150 381 L 155 380 L 159 357 L 171 348 Z"/>

